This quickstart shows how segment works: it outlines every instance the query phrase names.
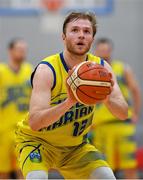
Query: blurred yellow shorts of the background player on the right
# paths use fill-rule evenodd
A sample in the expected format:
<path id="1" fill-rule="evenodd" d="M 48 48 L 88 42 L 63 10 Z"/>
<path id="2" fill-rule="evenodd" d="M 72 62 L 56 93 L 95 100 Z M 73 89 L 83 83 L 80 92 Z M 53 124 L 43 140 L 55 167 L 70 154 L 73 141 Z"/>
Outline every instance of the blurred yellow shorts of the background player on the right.
<path id="1" fill-rule="evenodd" d="M 104 155 L 113 170 L 136 168 L 135 126 L 131 123 L 109 123 L 95 127 L 92 143 Z"/>

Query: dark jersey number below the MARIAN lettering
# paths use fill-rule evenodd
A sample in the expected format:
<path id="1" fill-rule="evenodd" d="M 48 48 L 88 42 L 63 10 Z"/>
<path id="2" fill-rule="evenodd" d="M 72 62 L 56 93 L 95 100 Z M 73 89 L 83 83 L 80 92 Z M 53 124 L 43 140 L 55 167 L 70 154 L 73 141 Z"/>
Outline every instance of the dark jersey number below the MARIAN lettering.
<path id="1" fill-rule="evenodd" d="M 79 136 L 85 130 L 87 122 L 87 119 L 83 120 L 82 122 L 75 122 L 73 136 Z"/>

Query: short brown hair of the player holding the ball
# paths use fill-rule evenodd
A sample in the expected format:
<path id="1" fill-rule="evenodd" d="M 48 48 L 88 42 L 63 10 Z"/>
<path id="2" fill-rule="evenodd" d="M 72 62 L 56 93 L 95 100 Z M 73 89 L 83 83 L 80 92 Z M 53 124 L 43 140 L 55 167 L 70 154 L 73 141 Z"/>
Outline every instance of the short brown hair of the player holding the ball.
<path id="1" fill-rule="evenodd" d="M 92 29 L 93 29 L 93 37 L 94 37 L 97 31 L 97 28 L 96 28 L 97 22 L 96 22 L 95 14 L 91 12 L 71 12 L 64 20 L 63 33 L 66 34 L 67 24 L 77 19 L 87 19 L 91 22 Z"/>

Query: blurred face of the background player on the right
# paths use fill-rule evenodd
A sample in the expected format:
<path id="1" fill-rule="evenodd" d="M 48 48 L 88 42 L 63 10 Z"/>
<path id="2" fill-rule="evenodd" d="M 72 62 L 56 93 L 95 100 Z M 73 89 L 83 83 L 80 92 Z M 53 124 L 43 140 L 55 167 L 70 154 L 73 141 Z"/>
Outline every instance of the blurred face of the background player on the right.
<path id="1" fill-rule="evenodd" d="M 112 56 L 112 47 L 107 43 L 98 44 L 95 50 L 95 54 L 96 56 L 99 56 L 110 63 L 110 59 Z"/>

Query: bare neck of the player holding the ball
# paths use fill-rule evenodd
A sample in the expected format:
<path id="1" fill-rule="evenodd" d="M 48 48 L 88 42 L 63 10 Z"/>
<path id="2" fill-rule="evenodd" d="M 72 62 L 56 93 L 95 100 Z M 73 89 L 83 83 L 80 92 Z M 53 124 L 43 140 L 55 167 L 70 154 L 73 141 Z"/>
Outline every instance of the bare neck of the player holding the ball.
<path id="1" fill-rule="evenodd" d="M 80 56 L 80 55 L 71 54 L 68 51 L 64 51 L 63 55 L 64 55 L 65 62 L 67 64 L 67 66 L 69 67 L 69 69 L 72 69 L 76 64 L 79 64 L 79 63 L 85 61 L 87 58 L 86 54 L 83 56 Z"/>

